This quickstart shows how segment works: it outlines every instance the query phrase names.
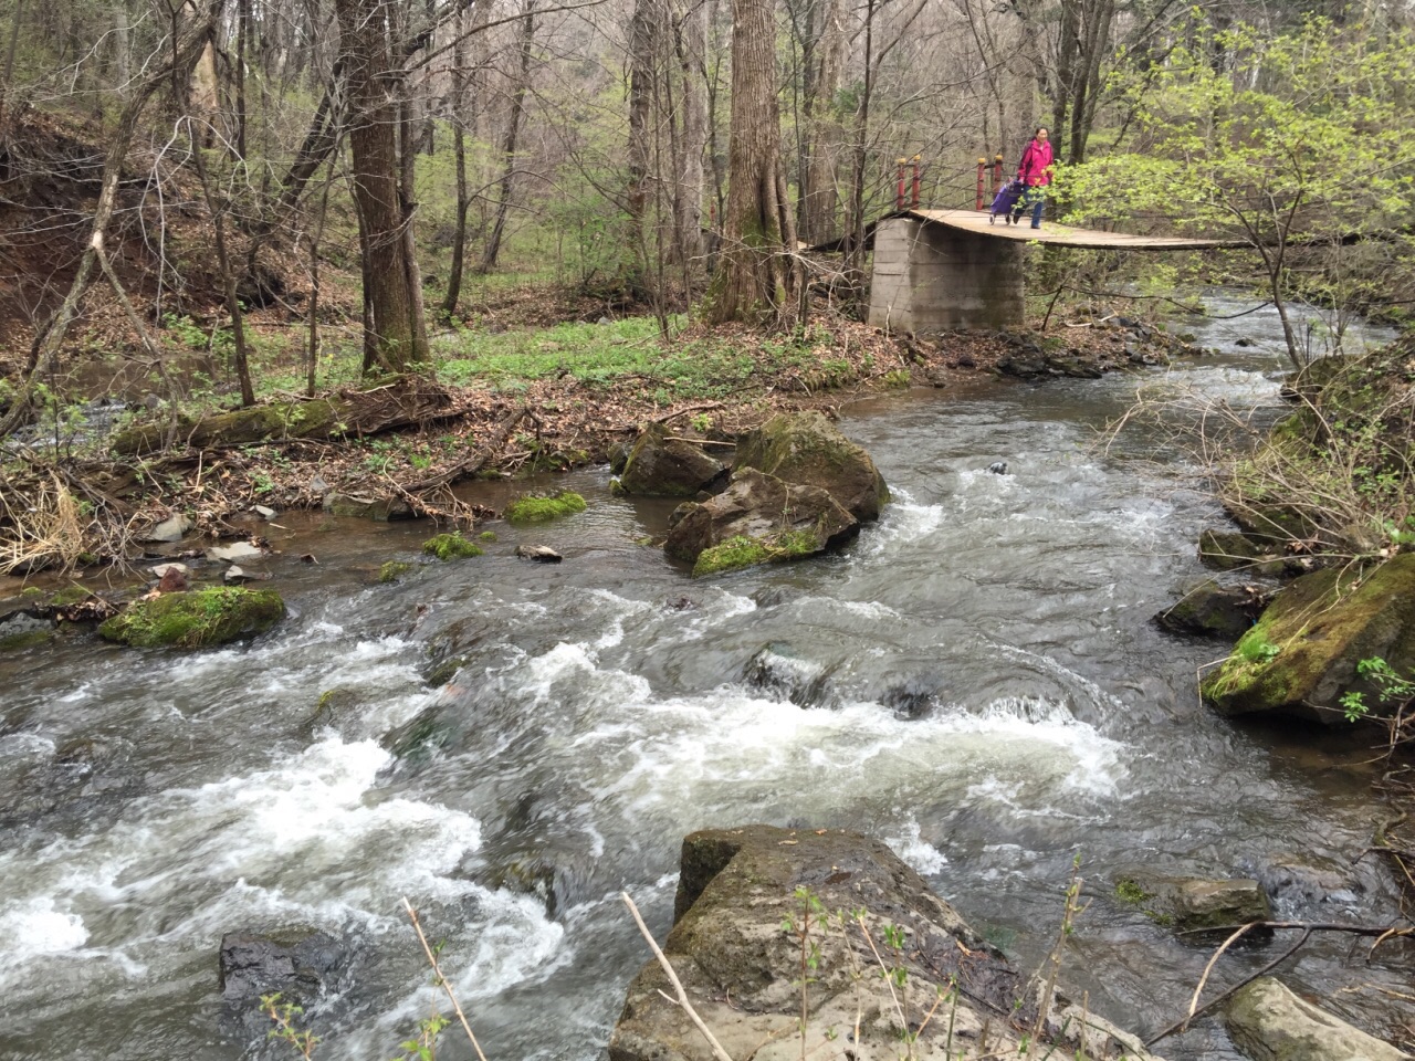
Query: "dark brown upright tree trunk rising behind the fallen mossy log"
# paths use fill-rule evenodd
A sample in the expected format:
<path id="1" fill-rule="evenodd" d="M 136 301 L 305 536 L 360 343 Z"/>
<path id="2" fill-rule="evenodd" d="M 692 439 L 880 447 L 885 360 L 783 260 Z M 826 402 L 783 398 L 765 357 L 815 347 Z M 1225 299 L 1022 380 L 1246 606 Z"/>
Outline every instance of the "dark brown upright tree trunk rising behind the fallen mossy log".
<path id="1" fill-rule="evenodd" d="M 381 0 L 335 0 L 341 50 L 348 72 L 352 120 L 354 199 L 364 228 L 364 283 L 372 315 L 372 358 L 389 372 L 405 372 L 422 359 L 427 334 L 415 334 L 409 289 L 409 243 L 399 194 L 396 78 L 389 41 L 389 11 Z M 372 371 L 374 365 L 368 365 Z"/>

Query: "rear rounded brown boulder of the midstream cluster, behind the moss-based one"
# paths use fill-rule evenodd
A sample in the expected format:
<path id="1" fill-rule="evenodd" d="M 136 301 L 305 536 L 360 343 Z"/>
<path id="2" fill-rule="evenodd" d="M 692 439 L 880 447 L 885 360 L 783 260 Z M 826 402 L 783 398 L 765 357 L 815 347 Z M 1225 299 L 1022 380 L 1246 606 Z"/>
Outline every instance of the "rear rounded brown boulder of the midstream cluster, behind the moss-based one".
<path id="1" fill-rule="evenodd" d="M 741 436 L 732 470 L 744 468 L 829 491 L 862 523 L 877 519 L 889 501 L 870 456 L 815 412 L 781 413 Z"/>

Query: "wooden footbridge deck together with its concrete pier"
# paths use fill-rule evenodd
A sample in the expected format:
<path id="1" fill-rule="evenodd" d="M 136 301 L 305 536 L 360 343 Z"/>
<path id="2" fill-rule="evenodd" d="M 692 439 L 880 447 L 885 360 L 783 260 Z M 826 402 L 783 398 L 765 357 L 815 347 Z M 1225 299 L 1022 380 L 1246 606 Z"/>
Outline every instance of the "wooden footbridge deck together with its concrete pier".
<path id="1" fill-rule="evenodd" d="M 1245 246 L 1224 239 L 1135 236 L 1044 222 L 1006 224 L 972 209 L 907 209 L 873 226 L 869 323 L 900 331 L 1015 328 L 1023 323 L 1023 248 L 1208 250 Z"/>

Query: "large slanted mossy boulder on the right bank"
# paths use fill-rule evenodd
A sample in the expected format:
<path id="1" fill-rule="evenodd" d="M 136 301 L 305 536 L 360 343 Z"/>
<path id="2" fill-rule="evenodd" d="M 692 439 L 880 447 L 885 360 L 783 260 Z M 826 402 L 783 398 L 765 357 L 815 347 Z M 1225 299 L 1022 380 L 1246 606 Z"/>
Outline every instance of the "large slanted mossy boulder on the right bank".
<path id="1" fill-rule="evenodd" d="M 1364 573 L 1305 574 L 1268 605 L 1232 655 L 1203 682 L 1223 714 L 1279 712 L 1343 723 L 1341 697 L 1378 690 L 1357 673 L 1380 656 L 1401 675 L 1415 668 L 1415 555 Z"/>

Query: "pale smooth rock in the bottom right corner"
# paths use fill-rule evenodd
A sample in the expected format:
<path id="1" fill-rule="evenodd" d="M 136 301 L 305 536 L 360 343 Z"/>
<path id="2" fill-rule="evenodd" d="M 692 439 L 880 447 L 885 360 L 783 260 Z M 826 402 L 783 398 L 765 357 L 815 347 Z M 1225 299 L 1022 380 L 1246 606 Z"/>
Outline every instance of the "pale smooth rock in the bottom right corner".
<path id="1" fill-rule="evenodd" d="M 1228 1037 L 1252 1061 L 1409 1061 L 1409 1054 L 1368 1036 L 1272 976 L 1244 986 L 1224 1006 Z"/>

